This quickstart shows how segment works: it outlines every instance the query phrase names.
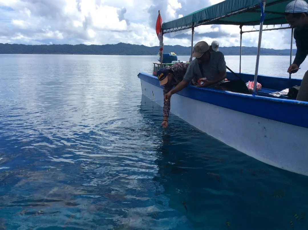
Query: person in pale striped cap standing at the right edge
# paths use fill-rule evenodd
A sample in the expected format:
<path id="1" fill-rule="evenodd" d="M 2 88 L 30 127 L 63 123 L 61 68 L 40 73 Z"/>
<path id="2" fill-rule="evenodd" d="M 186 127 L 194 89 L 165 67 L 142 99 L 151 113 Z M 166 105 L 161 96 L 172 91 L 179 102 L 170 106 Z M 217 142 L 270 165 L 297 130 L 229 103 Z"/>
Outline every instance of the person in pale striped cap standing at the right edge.
<path id="1" fill-rule="evenodd" d="M 285 18 L 294 28 L 296 55 L 287 72 L 296 73 L 308 54 L 308 4 L 303 0 L 294 0 L 286 6 Z M 304 74 L 296 97 L 298 101 L 308 101 L 308 71 Z"/>

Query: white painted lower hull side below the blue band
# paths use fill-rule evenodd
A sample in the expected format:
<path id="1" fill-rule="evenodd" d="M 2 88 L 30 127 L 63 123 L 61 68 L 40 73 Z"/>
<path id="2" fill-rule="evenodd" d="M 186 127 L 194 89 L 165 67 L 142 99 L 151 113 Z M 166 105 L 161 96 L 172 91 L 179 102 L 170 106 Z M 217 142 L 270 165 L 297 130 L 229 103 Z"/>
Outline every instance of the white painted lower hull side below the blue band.
<path id="1" fill-rule="evenodd" d="M 162 88 L 141 80 L 142 93 L 163 106 Z M 262 108 L 260 108 L 262 109 Z M 170 112 L 261 162 L 308 175 L 308 129 L 174 94 Z"/>

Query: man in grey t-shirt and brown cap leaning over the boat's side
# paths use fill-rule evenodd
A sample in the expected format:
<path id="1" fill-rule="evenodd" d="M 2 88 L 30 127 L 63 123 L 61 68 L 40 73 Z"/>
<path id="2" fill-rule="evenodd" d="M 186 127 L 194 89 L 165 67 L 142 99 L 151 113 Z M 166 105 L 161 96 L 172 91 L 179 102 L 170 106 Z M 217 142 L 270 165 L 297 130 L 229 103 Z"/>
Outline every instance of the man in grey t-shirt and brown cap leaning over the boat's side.
<path id="1" fill-rule="evenodd" d="M 227 76 L 227 68 L 223 53 L 220 51 L 210 52 L 208 43 L 201 41 L 194 46 L 193 57 L 195 59 L 189 64 L 183 80 L 165 94 L 164 99 L 166 101 L 170 99 L 172 94 L 185 88 L 193 78 L 206 78 L 206 80 L 202 80 L 203 84 L 197 87 L 214 87 L 224 82 Z M 203 70 L 203 75 L 200 68 Z"/>

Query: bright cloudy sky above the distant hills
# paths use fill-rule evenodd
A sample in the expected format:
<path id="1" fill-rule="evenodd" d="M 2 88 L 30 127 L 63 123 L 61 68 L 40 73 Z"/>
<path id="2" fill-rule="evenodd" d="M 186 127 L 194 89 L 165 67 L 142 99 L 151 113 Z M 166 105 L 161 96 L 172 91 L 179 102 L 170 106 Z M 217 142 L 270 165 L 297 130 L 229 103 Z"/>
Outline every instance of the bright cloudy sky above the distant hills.
<path id="1" fill-rule="evenodd" d="M 0 43 L 103 45 L 123 42 L 158 46 L 155 32 L 158 10 L 162 21 L 168 22 L 221 1 L 0 0 Z M 243 27 L 243 31 L 252 29 Z M 193 44 L 217 40 L 220 47 L 239 46 L 239 32 L 238 26 L 199 26 L 195 29 Z M 261 47 L 290 49 L 290 41 L 290 29 L 264 31 Z M 257 42 L 258 32 L 243 34 L 243 46 L 256 47 Z M 191 31 L 174 37 L 164 35 L 164 45 L 191 46 Z"/>

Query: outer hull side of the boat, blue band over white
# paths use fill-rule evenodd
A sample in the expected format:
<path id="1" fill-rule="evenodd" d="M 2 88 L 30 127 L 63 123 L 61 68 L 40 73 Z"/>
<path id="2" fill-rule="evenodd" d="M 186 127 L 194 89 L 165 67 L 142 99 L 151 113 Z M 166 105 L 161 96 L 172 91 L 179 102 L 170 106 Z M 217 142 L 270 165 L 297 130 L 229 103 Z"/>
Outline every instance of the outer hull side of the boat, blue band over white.
<path id="1" fill-rule="evenodd" d="M 163 106 L 157 78 L 138 77 Z M 172 95 L 170 112 L 261 162 L 308 175 L 308 103 L 188 86 Z"/>

